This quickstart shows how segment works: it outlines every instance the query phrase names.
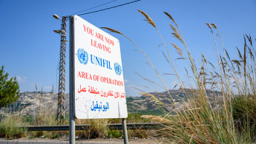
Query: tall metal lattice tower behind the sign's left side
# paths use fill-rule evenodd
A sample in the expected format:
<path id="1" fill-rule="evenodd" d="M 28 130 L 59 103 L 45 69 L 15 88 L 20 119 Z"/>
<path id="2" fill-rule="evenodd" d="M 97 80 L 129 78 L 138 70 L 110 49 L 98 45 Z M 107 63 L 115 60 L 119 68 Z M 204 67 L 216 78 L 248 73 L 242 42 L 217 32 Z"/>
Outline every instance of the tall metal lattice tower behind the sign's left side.
<path id="1" fill-rule="evenodd" d="M 67 18 L 62 17 L 61 47 L 59 59 L 59 94 L 58 94 L 58 112 L 57 125 L 62 125 L 65 121 L 65 74 L 66 74 L 66 24 Z"/>

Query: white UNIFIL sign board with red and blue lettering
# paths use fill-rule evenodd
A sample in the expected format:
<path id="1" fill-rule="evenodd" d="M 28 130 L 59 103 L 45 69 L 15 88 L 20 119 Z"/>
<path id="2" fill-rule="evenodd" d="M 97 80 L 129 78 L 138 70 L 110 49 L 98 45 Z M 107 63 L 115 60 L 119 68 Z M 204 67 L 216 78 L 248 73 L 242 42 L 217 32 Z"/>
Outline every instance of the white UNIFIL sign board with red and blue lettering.
<path id="1" fill-rule="evenodd" d="M 118 39 L 73 18 L 73 104 L 77 119 L 126 118 Z"/>

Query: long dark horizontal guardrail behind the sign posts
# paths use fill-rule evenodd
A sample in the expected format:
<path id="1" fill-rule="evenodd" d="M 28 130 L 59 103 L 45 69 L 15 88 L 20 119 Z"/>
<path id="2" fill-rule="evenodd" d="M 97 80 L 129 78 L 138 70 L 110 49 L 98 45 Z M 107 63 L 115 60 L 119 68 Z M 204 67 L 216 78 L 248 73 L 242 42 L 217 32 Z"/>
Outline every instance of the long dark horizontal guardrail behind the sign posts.
<path id="1" fill-rule="evenodd" d="M 127 123 L 127 129 L 160 129 L 163 128 L 165 123 Z M 110 130 L 122 130 L 122 123 L 107 124 Z M 68 131 L 69 126 L 24 126 L 27 131 Z M 76 125 L 76 130 L 88 130 L 91 125 Z"/>

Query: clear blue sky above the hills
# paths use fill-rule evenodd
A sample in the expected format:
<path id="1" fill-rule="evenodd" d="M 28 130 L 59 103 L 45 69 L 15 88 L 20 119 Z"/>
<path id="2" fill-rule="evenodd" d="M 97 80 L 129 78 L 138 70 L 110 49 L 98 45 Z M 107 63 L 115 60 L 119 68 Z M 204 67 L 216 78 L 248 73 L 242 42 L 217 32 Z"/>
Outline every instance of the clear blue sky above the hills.
<path id="1" fill-rule="evenodd" d="M 56 86 L 59 81 L 60 35 L 53 30 L 59 30 L 61 25 L 60 21 L 53 18 L 53 14 L 62 17 L 82 10 L 86 10 L 82 13 L 88 13 L 132 0 L 116 0 L 105 4 L 110 1 L 0 0 L 0 65 L 4 65 L 4 70 L 9 73 L 10 77 L 17 78 L 21 92 L 35 91 L 35 84 L 39 90 L 50 91 L 53 86 L 54 91 L 58 92 Z M 105 5 L 96 7 L 101 4 Z M 96 8 L 87 10 L 91 7 Z M 186 44 L 198 65 L 200 65 L 202 53 L 213 64 L 217 64 L 214 39 L 206 23 L 217 25 L 223 44 L 232 58 L 237 58 L 236 47 L 242 49 L 244 34 L 251 35 L 255 42 L 255 0 L 141 0 L 111 10 L 81 16 L 96 27 L 110 27 L 131 38 L 148 55 L 168 89 L 174 88 L 177 79 L 173 75 L 163 75 L 163 73 L 174 73 L 163 57 L 162 51 L 165 52 L 165 48 L 159 47 L 163 41 L 154 27 L 143 21 L 145 18 L 137 10 L 144 11 L 153 19 L 171 52 L 178 73 L 183 75 L 182 78 L 185 81 L 188 79 L 184 70 L 186 64 L 182 60 L 175 60 L 179 58 L 179 55 L 174 47 L 171 47 L 170 42 L 177 44 L 183 51 L 185 48 L 171 35 L 169 25 L 171 21 L 163 12 L 171 14 L 179 25 Z M 138 73 L 144 78 L 160 83 L 154 69 L 147 64 L 147 59 L 137 47 L 122 35 L 110 34 L 120 41 L 126 95 L 140 96 L 140 91 L 137 89 L 145 92 L 153 92 L 153 89 L 163 91 L 157 86 L 151 86 L 137 75 Z M 217 37 L 217 43 L 219 46 L 219 37 Z M 67 93 L 69 91 L 68 48 L 69 43 L 66 58 Z M 150 89 L 145 86 L 149 86 Z"/>

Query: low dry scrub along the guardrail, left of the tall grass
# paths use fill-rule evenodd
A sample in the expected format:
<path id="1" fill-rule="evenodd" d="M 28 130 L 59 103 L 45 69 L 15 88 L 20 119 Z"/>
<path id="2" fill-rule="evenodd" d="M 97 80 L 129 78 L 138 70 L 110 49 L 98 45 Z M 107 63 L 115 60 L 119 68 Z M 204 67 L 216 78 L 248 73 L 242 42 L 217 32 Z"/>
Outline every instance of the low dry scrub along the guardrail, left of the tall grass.
<path id="1" fill-rule="evenodd" d="M 68 116 L 68 113 L 65 114 Z M 151 120 L 140 117 L 141 114 L 128 114 L 127 123 L 151 123 Z M 68 125 L 69 117 L 65 117 L 65 123 Z M 16 112 L 7 111 L 0 118 L 0 137 L 4 138 L 65 138 L 68 137 L 68 131 L 27 131 L 24 126 L 56 126 L 56 113 L 47 111 L 39 112 L 35 116 L 23 116 Z M 110 130 L 108 123 L 122 123 L 121 119 L 95 119 L 95 120 L 76 120 L 76 125 L 89 124 L 91 128 L 85 131 L 76 131 L 76 137 L 79 139 L 94 138 L 122 138 L 122 130 Z M 142 129 L 128 130 L 130 138 L 154 137 L 156 131 L 145 131 Z"/>

